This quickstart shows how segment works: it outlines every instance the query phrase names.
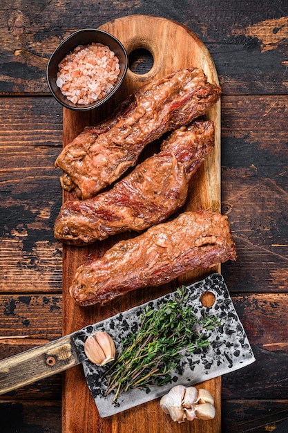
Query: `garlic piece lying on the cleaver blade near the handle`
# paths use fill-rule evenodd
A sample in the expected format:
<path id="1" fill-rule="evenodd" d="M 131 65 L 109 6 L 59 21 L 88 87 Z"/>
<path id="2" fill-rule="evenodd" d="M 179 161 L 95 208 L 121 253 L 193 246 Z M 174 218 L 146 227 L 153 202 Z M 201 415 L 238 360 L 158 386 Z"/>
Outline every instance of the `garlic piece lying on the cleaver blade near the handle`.
<path id="1" fill-rule="evenodd" d="M 115 359 L 115 344 L 106 332 L 89 335 L 84 344 L 85 354 L 93 364 L 105 365 Z"/>

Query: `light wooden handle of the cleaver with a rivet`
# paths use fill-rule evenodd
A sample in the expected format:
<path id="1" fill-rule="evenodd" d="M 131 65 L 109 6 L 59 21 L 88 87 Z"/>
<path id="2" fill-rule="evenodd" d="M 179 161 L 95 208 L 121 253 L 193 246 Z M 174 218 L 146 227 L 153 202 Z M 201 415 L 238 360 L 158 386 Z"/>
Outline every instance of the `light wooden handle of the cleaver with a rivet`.
<path id="1" fill-rule="evenodd" d="M 0 360 L 0 395 L 78 364 L 71 335 Z"/>

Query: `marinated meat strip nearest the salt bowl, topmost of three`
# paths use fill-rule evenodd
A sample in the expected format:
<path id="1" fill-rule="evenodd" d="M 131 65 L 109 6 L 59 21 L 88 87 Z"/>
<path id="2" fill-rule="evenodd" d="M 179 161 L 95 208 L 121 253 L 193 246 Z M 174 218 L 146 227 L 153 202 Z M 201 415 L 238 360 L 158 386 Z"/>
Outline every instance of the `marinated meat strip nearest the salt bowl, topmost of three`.
<path id="1" fill-rule="evenodd" d="M 64 190 L 90 199 L 137 163 L 144 147 L 206 113 L 220 98 L 200 68 L 187 68 L 144 84 L 115 116 L 88 127 L 55 161 Z"/>

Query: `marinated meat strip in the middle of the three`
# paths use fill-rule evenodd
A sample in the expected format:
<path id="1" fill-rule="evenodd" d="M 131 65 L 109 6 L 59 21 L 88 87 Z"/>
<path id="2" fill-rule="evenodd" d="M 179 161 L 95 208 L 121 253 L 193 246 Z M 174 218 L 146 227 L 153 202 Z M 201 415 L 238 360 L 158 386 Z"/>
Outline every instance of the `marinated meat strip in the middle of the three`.
<path id="1" fill-rule="evenodd" d="M 137 165 L 112 190 L 66 201 L 55 221 L 55 238 L 84 245 L 164 221 L 184 205 L 189 180 L 213 145 L 213 122 L 196 120 L 173 131 L 159 154 Z"/>

